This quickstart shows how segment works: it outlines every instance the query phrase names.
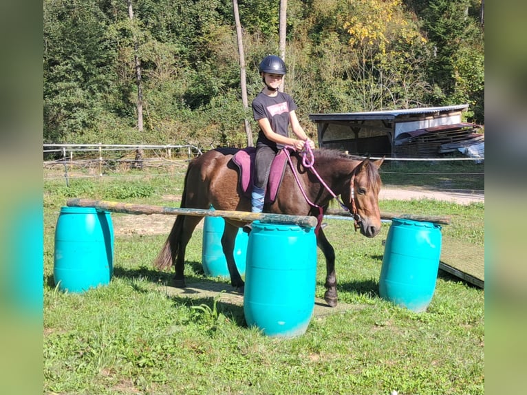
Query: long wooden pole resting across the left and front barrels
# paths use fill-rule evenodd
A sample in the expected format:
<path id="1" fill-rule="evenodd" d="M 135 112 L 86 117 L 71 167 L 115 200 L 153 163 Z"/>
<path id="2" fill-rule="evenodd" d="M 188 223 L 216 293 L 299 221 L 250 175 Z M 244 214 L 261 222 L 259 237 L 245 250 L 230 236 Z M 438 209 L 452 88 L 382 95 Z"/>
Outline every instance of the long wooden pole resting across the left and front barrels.
<path id="1" fill-rule="evenodd" d="M 224 217 L 241 222 L 261 221 L 268 224 L 295 224 L 300 226 L 316 226 L 316 217 L 307 215 L 286 215 L 271 213 L 250 213 L 249 211 L 178 209 L 169 206 L 152 206 L 150 204 L 132 204 L 109 202 L 108 200 L 80 199 L 78 197 L 66 202 L 69 207 L 93 207 L 101 211 L 124 214 L 164 214 L 190 215 L 192 217 Z"/>

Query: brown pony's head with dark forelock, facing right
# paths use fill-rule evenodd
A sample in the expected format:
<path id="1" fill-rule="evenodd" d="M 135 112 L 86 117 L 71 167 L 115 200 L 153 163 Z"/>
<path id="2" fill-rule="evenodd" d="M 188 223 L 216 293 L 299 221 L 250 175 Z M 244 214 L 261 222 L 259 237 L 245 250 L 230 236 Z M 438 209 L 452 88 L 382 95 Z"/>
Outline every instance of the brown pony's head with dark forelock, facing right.
<path id="1" fill-rule="evenodd" d="M 349 188 L 341 193 L 343 203 L 355 218 L 355 229 L 361 229 L 366 237 L 374 237 L 380 231 L 378 197 L 382 182 L 378 169 L 383 162 L 384 157 L 363 160 L 349 175 Z"/>

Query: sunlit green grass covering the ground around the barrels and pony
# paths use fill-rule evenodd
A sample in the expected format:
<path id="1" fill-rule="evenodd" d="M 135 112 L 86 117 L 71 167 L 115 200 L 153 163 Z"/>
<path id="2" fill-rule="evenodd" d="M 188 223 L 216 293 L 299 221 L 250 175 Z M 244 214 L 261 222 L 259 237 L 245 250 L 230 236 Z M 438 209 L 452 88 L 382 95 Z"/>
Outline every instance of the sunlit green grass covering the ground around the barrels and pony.
<path id="1" fill-rule="evenodd" d="M 167 295 L 170 275 L 151 268 L 166 235 L 116 237 L 108 286 L 81 295 L 54 288 L 54 226 L 70 195 L 120 200 L 120 191 L 129 195 L 123 201 L 166 204 L 162 195 L 180 195 L 182 186 L 175 175 L 75 181 L 71 189 L 61 188 L 63 180 L 45 182 L 45 393 L 484 393 L 484 291 L 440 272 L 427 312 L 381 299 L 381 241 L 389 224 L 367 239 L 349 221 L 327 220 L 339 301 L 357 308 L 312 319 L 296 339 L 275 339 L 247 328 L 239 306 Z M 389 200 L 380 209 L 449 215 L 444 235 L 483 245 L 483 204 Z M 204 277 L 200 259 L 197 229 L 187 275 Z M 324 281 L 319 252 L 316 297 L 323 297 Z"/>

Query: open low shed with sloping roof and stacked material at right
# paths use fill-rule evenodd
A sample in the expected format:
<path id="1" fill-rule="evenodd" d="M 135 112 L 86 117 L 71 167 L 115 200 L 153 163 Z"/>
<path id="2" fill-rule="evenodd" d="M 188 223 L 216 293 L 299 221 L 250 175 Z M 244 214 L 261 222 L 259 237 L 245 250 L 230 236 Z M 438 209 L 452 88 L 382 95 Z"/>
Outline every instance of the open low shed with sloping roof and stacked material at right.
<path id="1" fill-rule="evenodd" d="M 446 145 L 482 138 L 477 134 L 479 125 L 462 122 L 468 107 L 310 114 L 309 118 L 316 123 L 321 148 L 362 156 L 434 157 L 447 152 Z"/>

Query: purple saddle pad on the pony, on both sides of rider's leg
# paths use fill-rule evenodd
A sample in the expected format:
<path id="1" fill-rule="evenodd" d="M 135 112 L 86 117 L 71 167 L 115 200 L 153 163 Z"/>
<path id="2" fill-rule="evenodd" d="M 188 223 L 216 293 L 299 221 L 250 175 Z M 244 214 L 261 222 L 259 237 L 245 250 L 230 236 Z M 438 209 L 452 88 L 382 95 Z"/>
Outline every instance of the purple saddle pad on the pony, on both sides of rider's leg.
<path id="1" fill-rule="evenodd" d="M 250 193 L 252 191 L 252 171 L 255 168 L 255 155 L 255 147 L 247 147 L 237 151 L 231 159 L 239 169 L 238 180 L 241 191 L 243 191 L 244 196 L 248 198 L 250 198 Z M 270 204 L 275 202 L 283 179 L 283 173 L 286 171 L 287 161 L 288 157 L 283 149 L 281 149 L 277 153 L 277 156 L 275 156 L 275 159 L 272 160 L 266 188 L 266 203 Z"/>

